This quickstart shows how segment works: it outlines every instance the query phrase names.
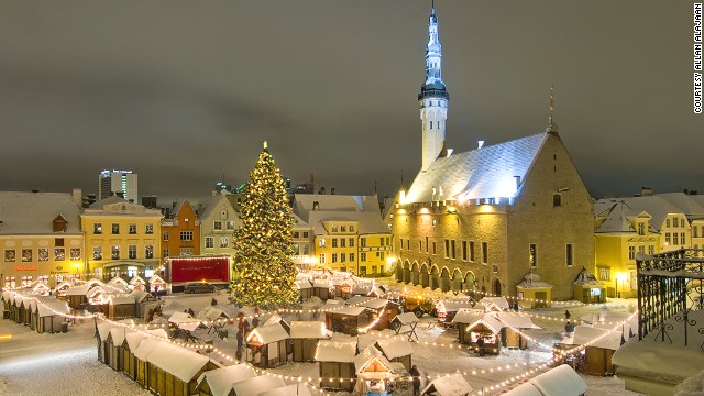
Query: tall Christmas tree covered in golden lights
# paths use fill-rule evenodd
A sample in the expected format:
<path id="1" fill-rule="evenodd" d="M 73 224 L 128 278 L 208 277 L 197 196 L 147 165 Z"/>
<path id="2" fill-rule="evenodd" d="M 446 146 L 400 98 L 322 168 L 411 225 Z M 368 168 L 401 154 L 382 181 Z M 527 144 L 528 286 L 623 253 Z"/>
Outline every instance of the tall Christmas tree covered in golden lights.
<path id="1" fill-rule="evenodd" d="M 266 142 L 250 178 L 242 200 L 243 226 L 234 238 L 232 298 L 261 307 L 296 302 L 292 209 Z"/>

